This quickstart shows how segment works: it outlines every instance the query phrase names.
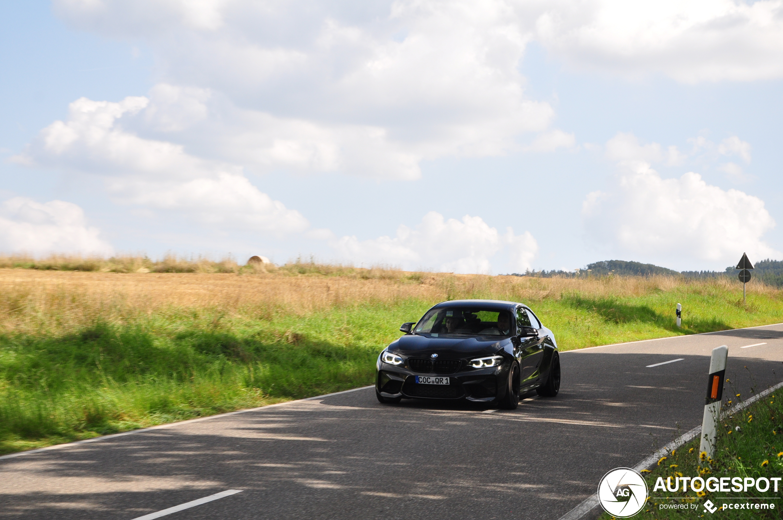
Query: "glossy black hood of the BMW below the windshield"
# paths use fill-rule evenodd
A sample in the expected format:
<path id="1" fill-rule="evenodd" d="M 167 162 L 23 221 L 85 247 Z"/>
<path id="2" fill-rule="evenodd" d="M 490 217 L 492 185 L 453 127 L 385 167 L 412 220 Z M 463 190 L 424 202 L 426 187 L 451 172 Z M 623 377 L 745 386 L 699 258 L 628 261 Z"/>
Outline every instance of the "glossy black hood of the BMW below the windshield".
<path id="1" fill-rule="evenodd" d="M 488 338 L 486 336 L 472 338 L 428 338 L 418 334 L 406 334 L 388 346 L 390 352 L 403 356 L 417 354 L 438 354 L 447 358 L 464 358 L 468 356 L 492 356 L 508 338 Z"/>

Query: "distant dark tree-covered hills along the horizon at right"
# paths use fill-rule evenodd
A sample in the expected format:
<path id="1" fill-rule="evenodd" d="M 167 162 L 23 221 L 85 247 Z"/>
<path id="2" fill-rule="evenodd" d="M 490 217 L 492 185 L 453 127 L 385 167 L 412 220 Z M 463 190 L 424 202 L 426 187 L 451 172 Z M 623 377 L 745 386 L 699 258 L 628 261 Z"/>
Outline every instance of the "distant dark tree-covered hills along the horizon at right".
<path id="1" fill-rule="evenodd" d="M 753 264 L 751 271 L 753 278 L 767 285 L 783 287 L 783 261 L 760 260 Z M 682 271 L 666 269 L 660 265 L 643 264 L 641 262 L 626 262 L 625 260 L 604 260 L 587 264 L 584 269 L 574 271 L 525 271 L 525 273 L 512 273 L 514 276 L 535 276 L 536 278 L 577 278 L 581 276 L 684 276 L 685 278 L 718 278 L 721 276 L 736 277 L 739 271 L 734 265 L 729 265 L 725 271 Z"/>

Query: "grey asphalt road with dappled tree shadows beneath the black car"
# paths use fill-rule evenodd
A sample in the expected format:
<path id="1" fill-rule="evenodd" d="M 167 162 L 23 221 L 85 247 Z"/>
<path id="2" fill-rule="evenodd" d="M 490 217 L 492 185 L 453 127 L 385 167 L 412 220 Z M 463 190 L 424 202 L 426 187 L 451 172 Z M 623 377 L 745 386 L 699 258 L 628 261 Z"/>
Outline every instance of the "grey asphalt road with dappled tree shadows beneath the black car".
<path id="1" fill-rule="evenodd" d="M 560 395 L 513 411 L 366 388 L 4 458 L 0 517 L 131 520 L 241 489 L 163 518 L 557 519 L 701 424 L 719 345 L 732 395 L 783 380 L 783 325 L 563 352 Z"/>

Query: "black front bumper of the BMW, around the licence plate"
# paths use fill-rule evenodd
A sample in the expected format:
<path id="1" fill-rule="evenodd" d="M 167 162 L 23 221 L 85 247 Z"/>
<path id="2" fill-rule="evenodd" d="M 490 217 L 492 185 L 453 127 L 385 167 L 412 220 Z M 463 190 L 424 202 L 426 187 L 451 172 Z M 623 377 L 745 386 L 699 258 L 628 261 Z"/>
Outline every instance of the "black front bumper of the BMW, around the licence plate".
<path id="1" fill-rule="evenodd" d="M 381 362 L 377 367 L 375 388 L 384 397 L 467 399 L 488 403 L 505 395 L 507 371 L 508 363 L 503 363 L 499 367 L 469 368 L 453 374 L 424 374 Z M 416 376 L 449 377 L 449 385 L 420 385 Z"/>

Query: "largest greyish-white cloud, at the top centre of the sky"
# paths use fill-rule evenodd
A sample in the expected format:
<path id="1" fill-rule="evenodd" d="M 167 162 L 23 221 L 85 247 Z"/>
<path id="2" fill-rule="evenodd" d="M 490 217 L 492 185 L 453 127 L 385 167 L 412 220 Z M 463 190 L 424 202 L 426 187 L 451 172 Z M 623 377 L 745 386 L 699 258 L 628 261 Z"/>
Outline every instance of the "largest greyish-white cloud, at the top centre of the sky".
<path id="1" fill-rule="evenodd" d="M 531 34 L 505 0 L 60 0 L 55 10 L 84 30 L 141 38 L 166 81 L 161 104 L 191 99 L 189 117 L 206 103 L 210 124 L 168 139 L 260 171 L 417 179 L 424 159 L 518 150 L 518 135 L 554 116 L 525 97 Z"/>

